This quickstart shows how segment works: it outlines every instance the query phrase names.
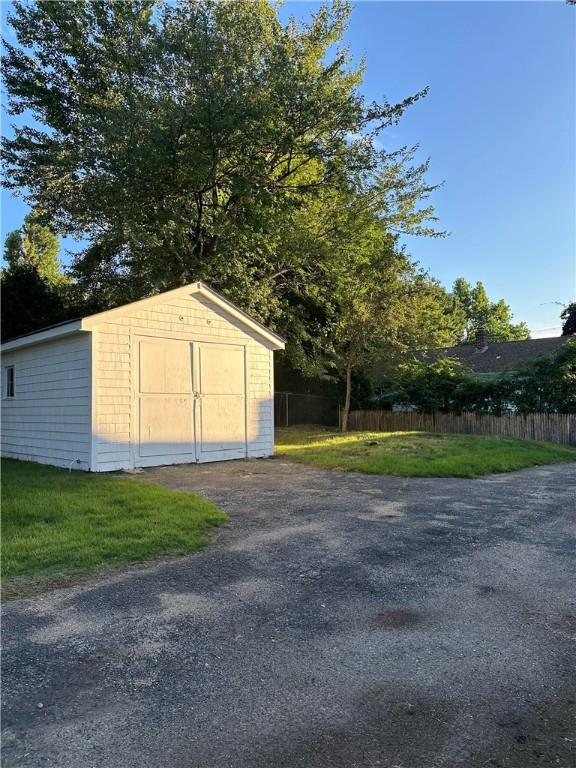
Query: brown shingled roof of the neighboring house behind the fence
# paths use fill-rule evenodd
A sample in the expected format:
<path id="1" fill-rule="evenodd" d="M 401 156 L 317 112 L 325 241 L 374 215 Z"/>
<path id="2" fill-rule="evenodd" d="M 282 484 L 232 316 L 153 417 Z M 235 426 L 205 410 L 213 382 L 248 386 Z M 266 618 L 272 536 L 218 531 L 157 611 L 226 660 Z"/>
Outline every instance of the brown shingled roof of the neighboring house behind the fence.
<path id="1" fill-rule="evenodd" d="M 445 349 L 428 349 L 416 353 L 423 363 L 432 363 L 442 357 L 450 357 L 472 368 L 476 373 L 501 373 L 518 363 L 552 354 L 573 336 L 554 336 L 548 339 L 525 341 L 498 341 L 484 347 L 475 344 L 459 344 Z"/>

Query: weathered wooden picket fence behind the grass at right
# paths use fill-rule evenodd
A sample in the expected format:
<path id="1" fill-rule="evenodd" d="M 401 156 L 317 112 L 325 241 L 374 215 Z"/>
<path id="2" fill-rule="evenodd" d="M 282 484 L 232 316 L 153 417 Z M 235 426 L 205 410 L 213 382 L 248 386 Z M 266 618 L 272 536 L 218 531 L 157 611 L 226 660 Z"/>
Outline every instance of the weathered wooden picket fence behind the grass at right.
<path id="1" fill-rule="evenodd" d="M 374 432 L 460 432 L 468 435 L 502 435 L 524 440 L 576 445 L 576 413 L 415 413 L 410 411 L 352 411 L 350 429 Z"/>

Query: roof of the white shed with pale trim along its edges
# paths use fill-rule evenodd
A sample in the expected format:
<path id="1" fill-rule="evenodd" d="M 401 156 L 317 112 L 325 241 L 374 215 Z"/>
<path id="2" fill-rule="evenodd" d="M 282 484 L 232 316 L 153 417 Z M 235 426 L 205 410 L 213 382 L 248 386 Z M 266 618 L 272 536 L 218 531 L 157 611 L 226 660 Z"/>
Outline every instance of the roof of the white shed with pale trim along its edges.
<path id="1" fill-rule="evenodd" d="M 131 312 L 139 312 L 142 309 L 150 309 L 156 304 L 161 304 L 168 299 L 176 299 L 181 296 L 202 296 L 208 299 L 212 304 L 218 306 L 224 310 L 227 314 L 234 317 L 238 322 L 250 328 L 258 336 L 268 341 L 273 349 L 284 349 L 286 342 L 278 334 L 270 331 L 266 326 L 254 320 L 253 317 L 247 315 L 239 307 L 233 304 L 228 299 L 225 299 L 219 293 L 209 288 L 207 285 L 201 282 L 190 283 L 189 285 L 183 285 L 181 288 L 175 288 L 172 291 L 164 291 L 164 293 L 157 293 L 154 296 L 149 296 L 147 299 L 141 299 L 140 301 L 133 301 L 130 304 L 124 304 L 121 307 L 115 309 L 108 309 L 104 312 L 98 312 L 95 315 L 88 315 L 77 320 L 70 320 L 65 323 L 57 323 L 56 325 L 48 326 L 47 328 L 41 328 L 33 333 L 27 333 L 23 336 L 18 336 L 15 339 L 10 339 L 2 344 L 2 351 L 8 352 L 11 349 L 20 349 L 32 344 L 39 344 L 44 341 L 51 341 L 62 336 L 68 336 L 71 333 L 77 333 L 78 331 L 90 331 L 95 325 L 106 323 L 116 317 L 130 314 Z"/>

